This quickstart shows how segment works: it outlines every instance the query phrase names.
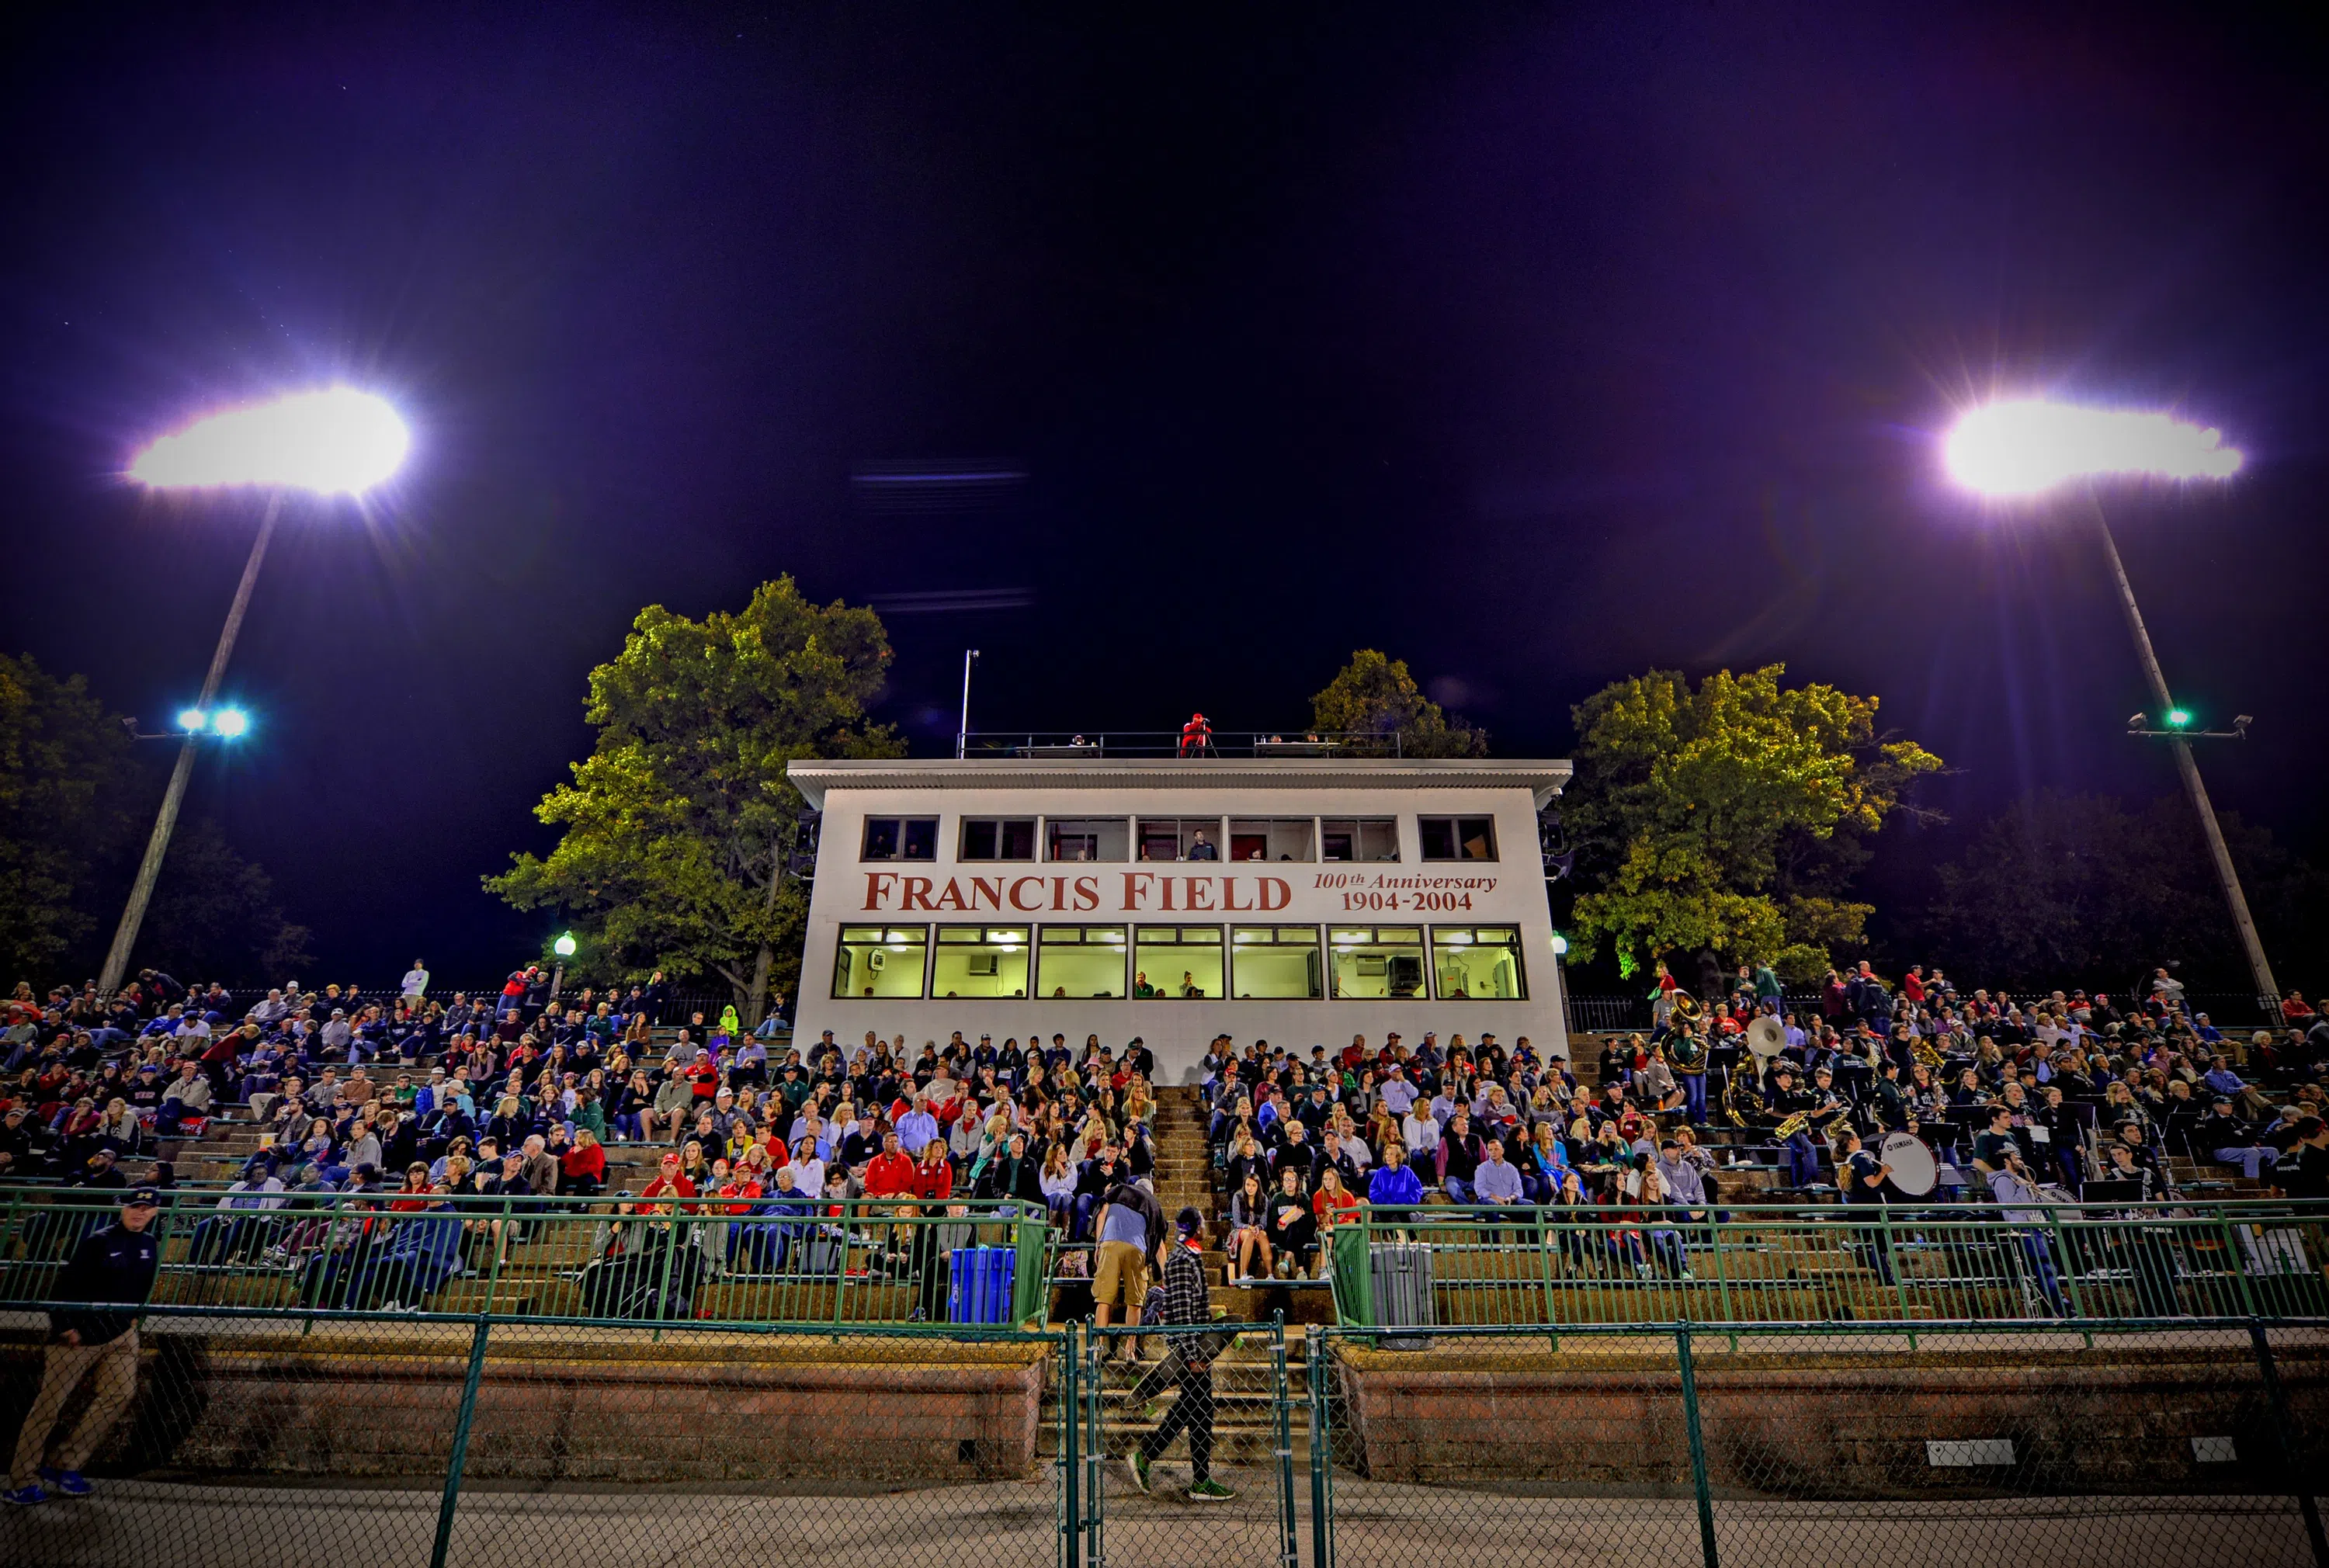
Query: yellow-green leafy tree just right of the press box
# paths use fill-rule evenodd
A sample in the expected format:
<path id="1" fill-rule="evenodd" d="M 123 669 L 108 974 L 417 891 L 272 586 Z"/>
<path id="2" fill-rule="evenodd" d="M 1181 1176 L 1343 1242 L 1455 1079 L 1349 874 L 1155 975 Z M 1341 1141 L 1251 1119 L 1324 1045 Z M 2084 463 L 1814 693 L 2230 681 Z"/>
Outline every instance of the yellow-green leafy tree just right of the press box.
<path id="1" fill-rule="evenodd" d="M 1861 839 L 1940 769 L 1914 741 L 1880 736 L 1877 699 L 1784 687 L 1784 666 L 1616 680 L 1577 720 L 1577 778 L 1563 815 L 1586 892 L 1572 944 L 1602 941 L 1621 974 L 1672 951 L 1770 960 L 1821 974 L 1861 941 L 1868 904 L 1847 897 Z"/>

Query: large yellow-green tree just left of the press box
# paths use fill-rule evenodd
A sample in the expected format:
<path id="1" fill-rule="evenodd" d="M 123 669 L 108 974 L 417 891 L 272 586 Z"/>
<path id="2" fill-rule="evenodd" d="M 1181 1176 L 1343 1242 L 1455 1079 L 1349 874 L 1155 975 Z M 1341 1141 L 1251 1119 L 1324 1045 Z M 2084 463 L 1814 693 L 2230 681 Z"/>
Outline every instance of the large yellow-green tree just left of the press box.
<path id="1" fill-rule="evenodd" d="M 596 748 L 533 808 L 559 846 L 512 855 L 484 885 L 585 925 L 587 967 L 608 979 L 717 976 L 759 1023 L 799 969 L 808 918 L 785 874 L 801 806 L 785 764 L 901 757 L 904 741 L 866 722 L 887 664 L 873 610 L 808 603 L 790 575 L 734 615 L 647 606 L 589 676 Z"/>

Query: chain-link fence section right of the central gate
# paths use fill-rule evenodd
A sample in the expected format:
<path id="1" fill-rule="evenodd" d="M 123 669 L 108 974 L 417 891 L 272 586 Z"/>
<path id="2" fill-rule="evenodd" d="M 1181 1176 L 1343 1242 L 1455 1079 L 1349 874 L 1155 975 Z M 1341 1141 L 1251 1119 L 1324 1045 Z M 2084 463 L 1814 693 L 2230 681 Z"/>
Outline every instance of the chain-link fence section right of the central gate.
<path id="1" fill-rule="evenodd" d="M 1314 1330 L 1311 1559 L 2322 1563 L 2329 1328 Z"/>

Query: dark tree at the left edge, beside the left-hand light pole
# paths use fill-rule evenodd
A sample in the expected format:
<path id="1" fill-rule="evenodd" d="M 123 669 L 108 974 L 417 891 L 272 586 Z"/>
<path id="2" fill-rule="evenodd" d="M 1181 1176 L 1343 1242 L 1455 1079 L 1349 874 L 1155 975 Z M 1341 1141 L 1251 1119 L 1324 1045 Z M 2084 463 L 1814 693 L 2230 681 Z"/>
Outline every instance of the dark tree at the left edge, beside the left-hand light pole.
<path id="1" fill-rule="evenodd" d="M 119 836 L 130 739 L 89 694 L 30 655 L 0 655 L 0 953 L 47 976 L 95 927 L 93 850 Z"/>

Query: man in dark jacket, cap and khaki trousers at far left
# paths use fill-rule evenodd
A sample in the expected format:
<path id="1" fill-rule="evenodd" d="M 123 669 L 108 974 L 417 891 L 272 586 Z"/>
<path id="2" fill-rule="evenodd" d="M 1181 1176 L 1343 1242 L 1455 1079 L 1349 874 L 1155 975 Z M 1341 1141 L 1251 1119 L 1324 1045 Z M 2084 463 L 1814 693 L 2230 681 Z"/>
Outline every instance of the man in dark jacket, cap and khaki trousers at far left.
<path id="1" fill-rule="evenodd" d="M 47 1503 L 51 1486 L 65 1498 L 89 1496 L 82 1465 L 137 1393 L 137 1309 L 154 1293 L 154 1270 L 161 1263 L 151 1230 L 158 1202 L 158 1193 L 149 1186 L 128 1193 L 121 1219 L 86 1237 L 56 1279 L 51 1291 L 56 1300 L 89 1302 L 89 1307 L 49 1314 L 40 1393 L 33 1396 L 33 1410 L 16 1433 L 16 1458 L 9 1465 L 9 1503 Z M 95 1377 L 89 1377 L 91 1372 Z M 89 1398 L 82 1414 L 56 1449 L 56 1465 L 42 1465 L 49 1438 L 84 1379 Z"/>

